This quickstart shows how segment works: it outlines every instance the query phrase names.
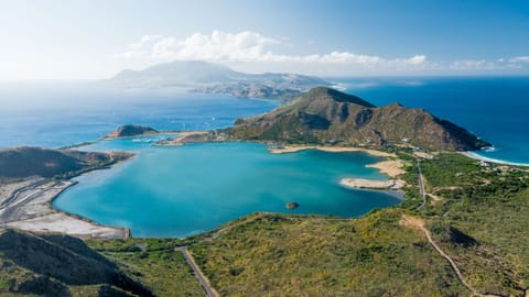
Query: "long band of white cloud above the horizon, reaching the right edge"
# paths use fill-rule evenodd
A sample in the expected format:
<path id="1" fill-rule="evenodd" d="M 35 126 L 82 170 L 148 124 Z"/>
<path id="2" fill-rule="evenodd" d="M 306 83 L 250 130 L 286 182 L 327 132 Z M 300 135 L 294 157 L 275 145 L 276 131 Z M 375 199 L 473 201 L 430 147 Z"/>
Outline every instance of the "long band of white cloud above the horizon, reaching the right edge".
<path id="1" fill-rule="evenodd" d="M 529 56 L 494 61 L 468 58 L 431 62 L 427 61 L 425 55 L 382 57 L 349 51 L 284 54 L 292 52 L 294 47 L 288 37 L 272 38 L 252 31 L 227 33 L 216 30 L 210 34 L 194 33 L 183 38 L 143 35 L 138 42 L 127 45 L 123 52 L 116 54 L 115 57 L 142 66 L 171 61 L 201 59 L 223 63 L 249 73 L 295 72 L 328 76 L 428 72 L 483 73 L 522 70 L 529 65 Z"/>

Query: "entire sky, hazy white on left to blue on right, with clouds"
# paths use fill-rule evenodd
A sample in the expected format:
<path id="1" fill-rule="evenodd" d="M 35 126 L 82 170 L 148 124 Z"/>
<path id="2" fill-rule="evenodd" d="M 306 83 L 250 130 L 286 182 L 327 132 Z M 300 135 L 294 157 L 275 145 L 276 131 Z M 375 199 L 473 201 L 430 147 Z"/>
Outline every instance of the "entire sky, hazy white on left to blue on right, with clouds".
<path id="1" fill-rule="evenodd" d="M 529 75 L 529 1 L 0 0 L 0 80 L 180 59 L 327 77 Z"/>

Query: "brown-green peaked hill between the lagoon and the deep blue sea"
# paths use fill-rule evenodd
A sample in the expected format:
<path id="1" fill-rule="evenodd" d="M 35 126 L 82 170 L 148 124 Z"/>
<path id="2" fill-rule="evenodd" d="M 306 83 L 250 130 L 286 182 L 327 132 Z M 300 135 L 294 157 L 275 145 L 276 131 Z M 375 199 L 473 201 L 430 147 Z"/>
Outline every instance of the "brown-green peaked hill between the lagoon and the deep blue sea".
<path id="1" fill-rule="evenodd" d="M 226 133 L 235 139 L 363 146 L 413 145 L 468 151 L 488 145 L 476 135 L 423 109 L 385 107 L 331 88 L 310 90 L 294 102 L 239 119 Z"/>

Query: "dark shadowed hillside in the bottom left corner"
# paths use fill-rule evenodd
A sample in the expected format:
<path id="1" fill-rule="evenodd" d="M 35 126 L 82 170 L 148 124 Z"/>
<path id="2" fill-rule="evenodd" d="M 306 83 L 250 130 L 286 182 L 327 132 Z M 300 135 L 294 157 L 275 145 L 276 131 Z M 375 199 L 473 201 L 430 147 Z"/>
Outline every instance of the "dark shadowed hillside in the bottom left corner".
<path id="1" fill-rule="evenodd" d="M 152 296 L 82 240 L 0 230 L 0 292 L 39 296 Z M 84 294 L 79 294 L 84 295 Z"/>

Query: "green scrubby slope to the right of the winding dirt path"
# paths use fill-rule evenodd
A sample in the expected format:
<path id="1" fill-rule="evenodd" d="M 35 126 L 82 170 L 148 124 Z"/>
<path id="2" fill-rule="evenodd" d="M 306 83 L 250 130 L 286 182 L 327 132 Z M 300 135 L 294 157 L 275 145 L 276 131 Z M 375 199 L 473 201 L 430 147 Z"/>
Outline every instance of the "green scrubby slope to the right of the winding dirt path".
<path id="1" fill-rule="evenodd" d="M 421 166 L 442 198 L 422 210 L 428 227 L 467 282 L 482 293 L 521 295 L 529 288 L 528 173 L 457 154 Z"/>

